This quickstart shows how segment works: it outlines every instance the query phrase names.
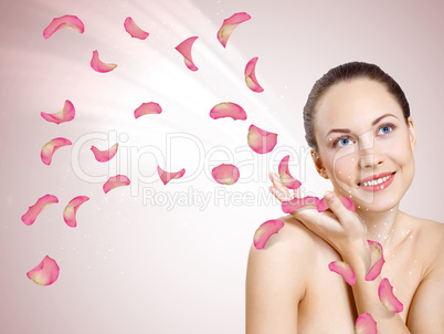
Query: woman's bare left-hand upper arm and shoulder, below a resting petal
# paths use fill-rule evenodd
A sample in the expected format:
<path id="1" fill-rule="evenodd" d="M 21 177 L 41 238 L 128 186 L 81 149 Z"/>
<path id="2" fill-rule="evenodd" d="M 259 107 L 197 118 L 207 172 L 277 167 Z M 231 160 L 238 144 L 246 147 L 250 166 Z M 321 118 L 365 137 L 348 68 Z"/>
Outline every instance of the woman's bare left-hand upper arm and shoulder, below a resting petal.
<path id="1" fill-rule="evenodd" d="M 264 249 L 251 247 L 246 271 L 246 334 L 296 334 L 297 309 L 304 298 L 310 259 L 286 223 Z M 293 236 L 293 237 L 292 237 Z M 294 237 L 300 237 L 295 242 Z"/>

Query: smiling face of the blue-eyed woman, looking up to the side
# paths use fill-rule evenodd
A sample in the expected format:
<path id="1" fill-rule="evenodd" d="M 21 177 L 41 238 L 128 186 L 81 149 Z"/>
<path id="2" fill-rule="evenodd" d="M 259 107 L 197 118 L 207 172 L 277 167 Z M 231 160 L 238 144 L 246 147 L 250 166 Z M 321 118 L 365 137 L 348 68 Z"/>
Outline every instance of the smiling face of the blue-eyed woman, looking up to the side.
<path id="1" fill-rule="evenodd" d="M 393 95 L 379 82 L 356 79 L 329 87 L 316 109 L 319 174 L 357 209 L 395 207 L 413 180 L 416 136 Z"/>

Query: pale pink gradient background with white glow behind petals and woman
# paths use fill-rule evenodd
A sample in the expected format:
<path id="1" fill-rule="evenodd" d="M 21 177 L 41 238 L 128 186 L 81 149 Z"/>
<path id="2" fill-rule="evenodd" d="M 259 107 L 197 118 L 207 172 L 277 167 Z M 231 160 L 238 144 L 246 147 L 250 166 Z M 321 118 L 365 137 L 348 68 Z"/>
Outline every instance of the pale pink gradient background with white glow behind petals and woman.
<path id="1" fill-rule="evenodd" d="M 1 1 L 0 332 L 243 333 L 249 248 L 256 228 L 282 211 L 272 197 L 268 205 L 252 205 L 228 192 L 264 197 L 267 171 L 277 171 L 289 148 L 303 153 L 290 170 L 307 191 L 320 196 L 329 189 L 304 150 L 302 108 L 314 82 L 348 61 L 377 63 L 403 87 L 419 147 L 415 179 L 401 208 L 443 221 L 443 9 L 441 1 L 402 0 Z M 223 19 L 242 11 L 252 20 L 237 27 L 223 49 L 216 31 Z M 63 14 L 81 18 L 85 33 L 65 29 L 44 40 L 44 28 Z M 150 33 L 146 41 L 126 33 L 128 15 Z M 192 35 L 199 36 L 197 72 L 175 50 Z M 94 72 L 94 50 L 118 67 Z M 262 94 L 243 80 L 253 56 L 260 58 Z M 40 116 L 57 112 L 65 100 L 76 107 L 74 121 L 57 126 Z M 136 121 L 134 109 L 149 101 L 163 113 Z M 241 104 L 249 119 L 211 119 L 211 107 L 224 101 Z M 252 159 L 245 149 L 252 123 L 279 134 L 275 154 L 240 167 L 247 180 L 215 184 L 211 167 Z M 108 132 L 118 139 L 106 140 Z M 179 133 L 168 147 L 168 134 Z M 40 160 L 52 138 L 78 144 L 87 135 L 93 139 L 76 154 L 73 145 L 57 150 L 51 166 Z M 120 156 L 96 163 L 91 145 L 105 149 L 116 140 Z M 95 177 L 80 176 L 77 164 Z M 189 177 L 163 186 L 157 164 L 172 171 L 184 167 Z M 129 171 L 135 185 L 144 179 L 138 191 L 103 192 L 107 176 Z M 161 197 L 144 205 L 144 187 L 163 195 L 192 187 L 211 198 L 203 209 L 195 202 L 168 208 Z M 21 216 L 45 194 L 60 202 L 24 226 Z M 80 195 L 91 200 L 71 229 L 62 212 Z M 25 273 L 46 254 L 61 273 L 53 285 L 39 286 Z"/>

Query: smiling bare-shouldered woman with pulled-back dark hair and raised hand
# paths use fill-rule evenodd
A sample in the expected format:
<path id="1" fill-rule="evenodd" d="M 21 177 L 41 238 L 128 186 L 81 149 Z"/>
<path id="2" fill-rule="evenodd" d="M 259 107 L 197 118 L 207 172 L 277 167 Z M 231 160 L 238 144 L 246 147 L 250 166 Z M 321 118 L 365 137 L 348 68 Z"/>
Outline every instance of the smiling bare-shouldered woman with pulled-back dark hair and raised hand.
<path id="1" fill-rule="evenodd" d="M 399 209 L 416 147 L 404 93 L 378 66 L 347 63 L 316 82 L 304 122 L 316 169 L 334 187 L 324 197 L 329 210 L 298 209 L 279 218 L 285 226 L 264 249 L 252 246 L 246 333 L 355 333 L 363 313 L 382 334 L 444 333 L 444 225 Z M 269 176 L 269 190 L 281 201 L 298 196 Z M 353 201 L 355 212 L 341 196 Z M 367 240 L 379 242 L 385 259 L 373 281 L 364 280 Z M 329 270 L 332 261 L 353 269 L 353 286 Z M 384 278 L 403 304 L 400 313 L 379 300 Z"/>

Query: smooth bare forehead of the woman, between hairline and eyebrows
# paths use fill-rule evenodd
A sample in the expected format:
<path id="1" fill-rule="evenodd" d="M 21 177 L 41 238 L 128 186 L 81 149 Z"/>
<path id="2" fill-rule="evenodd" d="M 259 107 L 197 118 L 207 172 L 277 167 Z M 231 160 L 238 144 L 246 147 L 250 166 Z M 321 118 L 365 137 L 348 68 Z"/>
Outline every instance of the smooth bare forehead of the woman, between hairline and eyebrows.
<path id="1" fill-rule="evenodd" d="M 366 132 L 381 115 L 403 118 L 402 108 L 387 87 L 369 79 L 340 82 L 327 90 L 316 106 L 316 134 L 324 138 L 332 128 Z"/>

